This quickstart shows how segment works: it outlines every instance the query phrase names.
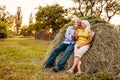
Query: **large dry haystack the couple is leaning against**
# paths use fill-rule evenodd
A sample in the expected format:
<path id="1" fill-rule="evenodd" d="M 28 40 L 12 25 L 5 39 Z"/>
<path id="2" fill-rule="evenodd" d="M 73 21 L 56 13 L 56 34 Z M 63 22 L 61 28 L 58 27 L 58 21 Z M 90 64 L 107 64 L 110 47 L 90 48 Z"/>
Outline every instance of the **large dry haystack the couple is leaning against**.
<path id="1" fill-rule="evenodd" d="M 120 33 L 112 25 L 101 19 L 94 17 L 93 19 L 88 18 L 88 20 L 92 23 L 91 27 L 95 32 L 95 37 L 89 51 L 82 57 L 82 71 L 95 73 L 105 68 L 113 69 L 113 66 L 120 64 Z M 48 56 L 64 40 L 66 27 L 70 24 L 65 25 L 56 35 L 47 52 Z M 57 61 L 61 56 L 58 57 Z M 69 69 L 72 66 L 73 58 L 72 54 L 65 64 L 65 69 Z"/>

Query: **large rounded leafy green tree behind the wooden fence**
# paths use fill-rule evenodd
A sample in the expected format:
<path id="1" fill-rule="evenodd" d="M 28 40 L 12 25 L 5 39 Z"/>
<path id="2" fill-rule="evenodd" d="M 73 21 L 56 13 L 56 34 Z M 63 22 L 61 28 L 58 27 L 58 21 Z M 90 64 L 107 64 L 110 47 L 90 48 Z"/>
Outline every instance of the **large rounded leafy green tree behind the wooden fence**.
<path id="1" fill-rule="evenodd" d="M 63 14 L 63 7 L 58 4 L 46 7 L 40 6 L 36 13 L 36 29 L 52 28 L 53 31 L 60 29 L 67 22 Z"/>

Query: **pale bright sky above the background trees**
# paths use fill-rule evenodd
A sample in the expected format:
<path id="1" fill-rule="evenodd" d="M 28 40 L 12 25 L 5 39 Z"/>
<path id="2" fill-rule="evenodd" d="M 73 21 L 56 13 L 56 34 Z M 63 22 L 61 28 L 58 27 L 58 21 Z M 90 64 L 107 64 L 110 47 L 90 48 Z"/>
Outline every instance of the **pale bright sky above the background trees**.
<path id="1" fill-rule="evenodd" d="M 27 25 L 29 23 L 30 13 L 33 13 L 33 16 L 36 13 L 36 9 L 38 6 L 46 6 L 53 4 L 60 4 L 64 8 L 69 8 L 74 6 L 72 0 L 0 0 L 0 6 L 5 5 L 6 10 L 10 12 L 10 14 L 15 15 L 17 11 L 17 7 L 21 7 L 23 22 L 22 25 Z M 112 24 L 120 24 L 120 16 L 116 15 L 110 21 Z"/>

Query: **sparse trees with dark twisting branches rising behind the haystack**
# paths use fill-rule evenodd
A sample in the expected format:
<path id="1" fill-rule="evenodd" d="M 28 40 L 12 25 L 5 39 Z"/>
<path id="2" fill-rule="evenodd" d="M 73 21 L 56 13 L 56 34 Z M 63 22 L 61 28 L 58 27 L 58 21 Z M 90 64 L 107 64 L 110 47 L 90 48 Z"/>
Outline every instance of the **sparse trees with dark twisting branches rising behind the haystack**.
<path id="1" fill-rule="evenodd" d="M 78 3 L 80 16 L 102 16 L 107 17 L 107 20 L 120 14 L 120 0 L 73 0 Z"/>

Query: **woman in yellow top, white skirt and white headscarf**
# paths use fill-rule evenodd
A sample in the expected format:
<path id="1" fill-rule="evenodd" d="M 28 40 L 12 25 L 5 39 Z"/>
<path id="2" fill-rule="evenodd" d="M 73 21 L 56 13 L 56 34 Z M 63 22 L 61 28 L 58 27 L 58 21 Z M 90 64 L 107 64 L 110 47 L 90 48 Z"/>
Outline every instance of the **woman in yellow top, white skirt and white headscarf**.
<path id="1" fill-rule="evenodd" d="M 68 70 L 68 73 L 73 73 L 77 67 L 77 74 L 81 74 L 81 57 L 89 49 L 90 42 L 93 39 L 94 32 L 90 29 L 90 23 L 87 20 L 81 21 L 81 26 L 77 29 L 74 34 L 76 44 L 74 46 L 74 62 L 72 67 Z"/>

